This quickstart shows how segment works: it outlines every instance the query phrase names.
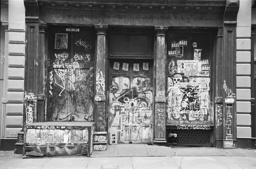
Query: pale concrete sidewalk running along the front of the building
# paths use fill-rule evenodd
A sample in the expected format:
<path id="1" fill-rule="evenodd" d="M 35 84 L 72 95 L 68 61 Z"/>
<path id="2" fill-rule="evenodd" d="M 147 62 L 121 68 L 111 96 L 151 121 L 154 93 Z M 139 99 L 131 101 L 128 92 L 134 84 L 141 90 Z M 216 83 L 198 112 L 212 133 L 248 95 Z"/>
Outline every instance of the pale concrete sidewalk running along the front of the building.
<path id="1" fill-rule="evenodd" d="M 14 151 L 0 151 L 0 169 L 256 169 L 256 149 L 118 144 L 90 158 L 26 159 Z"/>

